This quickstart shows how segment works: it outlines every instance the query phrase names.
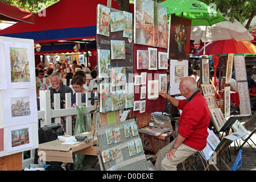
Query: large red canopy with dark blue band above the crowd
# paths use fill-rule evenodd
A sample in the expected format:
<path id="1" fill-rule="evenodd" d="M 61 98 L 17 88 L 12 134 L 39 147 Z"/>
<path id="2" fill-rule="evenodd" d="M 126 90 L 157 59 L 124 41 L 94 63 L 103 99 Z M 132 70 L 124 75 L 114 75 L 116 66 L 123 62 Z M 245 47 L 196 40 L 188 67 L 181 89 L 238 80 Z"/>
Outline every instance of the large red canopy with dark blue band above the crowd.
<path id="1" fill-rule="evenodd" d="M 75 43 L 58 42 L 73 40 L 89 42 L 88 51 L 96 50 L 96 8 L 98 4 L 107 5 L 106 0 L 61 0 L 36 14 L 35 24 L 16 23 L 0 31 L 1 36 L 34 39 L 39 43 L 40 52 L 73 52 Z M 118 9 L 118 2 L 112 1 L 112 7 Z M 133 8 L 131 8 L 133 10 Z M 83 40 L 84 39 L 84 40 Z M 79 52 L 85 51 L 81 44 Z"/>

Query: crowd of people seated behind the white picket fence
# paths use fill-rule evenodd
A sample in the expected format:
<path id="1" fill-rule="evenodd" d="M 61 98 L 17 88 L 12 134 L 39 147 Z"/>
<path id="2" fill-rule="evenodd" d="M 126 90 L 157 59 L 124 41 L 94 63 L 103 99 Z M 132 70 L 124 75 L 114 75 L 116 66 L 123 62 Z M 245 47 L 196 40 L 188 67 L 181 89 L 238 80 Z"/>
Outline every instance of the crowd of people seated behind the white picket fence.
<path id="1" fill-rule="evenodd" d="M 76 60 L 71 65 L 68 65 L 66 61 L 65 63 L 49 63 L 48 68 L 44 67 L 44 63 L 41 62 L 36 65 L 35 75 L 38 110 L 40 110 L 39 90 L 50 90 L 52 102 L 55 93 L 60 93 L 60 100 L 64 103 L 65 93 L 71 93 L 73 107 L 76 106 L 76 93 L 81 92 L 82 105 L 85 106 L 85 93 L 90 92 L 90 96 L 94 97 L 94 92 L 97 90 L 97 70 L 85 67 L 84 64 L 77 64 Z M 94 105 L 94 100 L 91 104 Z"/>

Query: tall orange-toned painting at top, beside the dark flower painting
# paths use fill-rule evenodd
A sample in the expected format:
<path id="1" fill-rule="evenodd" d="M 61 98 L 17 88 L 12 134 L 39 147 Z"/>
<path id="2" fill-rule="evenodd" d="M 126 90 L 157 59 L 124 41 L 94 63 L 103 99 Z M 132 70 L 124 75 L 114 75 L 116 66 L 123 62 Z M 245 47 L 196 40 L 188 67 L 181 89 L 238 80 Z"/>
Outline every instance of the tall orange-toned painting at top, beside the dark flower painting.
<path id="1" fill-rule="evenodd" d="M 154 2 L 154 46 L 168 47 L 167 7 Z"/>

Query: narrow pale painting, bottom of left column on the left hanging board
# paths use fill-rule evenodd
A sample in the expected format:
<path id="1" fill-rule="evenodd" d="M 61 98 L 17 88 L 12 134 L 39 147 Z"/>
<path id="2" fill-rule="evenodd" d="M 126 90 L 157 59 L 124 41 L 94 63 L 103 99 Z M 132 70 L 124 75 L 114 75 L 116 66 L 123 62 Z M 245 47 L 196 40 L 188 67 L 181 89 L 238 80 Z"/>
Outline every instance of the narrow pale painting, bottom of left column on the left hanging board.
<path id="1" fill-rule="evenodd" d="M 100 84 L 100 111 L 112 110 L 111 84 Z"/>

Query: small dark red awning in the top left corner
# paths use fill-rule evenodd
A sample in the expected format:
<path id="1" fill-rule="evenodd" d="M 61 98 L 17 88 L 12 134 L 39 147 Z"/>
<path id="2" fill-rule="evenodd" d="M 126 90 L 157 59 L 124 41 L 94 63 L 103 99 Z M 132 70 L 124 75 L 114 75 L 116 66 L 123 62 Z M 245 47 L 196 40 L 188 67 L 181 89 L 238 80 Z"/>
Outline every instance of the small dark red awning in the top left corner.
<path id="1" fill-rule="evenodd" d="M 35 24 L 35 14 L 0 1 L 0 20 Z"/>

